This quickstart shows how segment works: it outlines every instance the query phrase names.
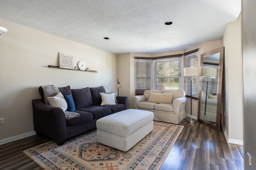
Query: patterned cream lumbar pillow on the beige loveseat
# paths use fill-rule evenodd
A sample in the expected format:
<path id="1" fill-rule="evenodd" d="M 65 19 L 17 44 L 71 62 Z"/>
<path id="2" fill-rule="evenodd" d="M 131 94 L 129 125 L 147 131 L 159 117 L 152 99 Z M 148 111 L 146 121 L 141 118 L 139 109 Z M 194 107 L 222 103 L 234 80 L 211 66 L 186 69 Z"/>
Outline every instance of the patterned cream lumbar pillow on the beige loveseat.
<path id="1" fill-rule="evenodd" d="M 161 94 L 150 92 L 148 102 L 172 104 L 172 97 L 173 93 Z"/>

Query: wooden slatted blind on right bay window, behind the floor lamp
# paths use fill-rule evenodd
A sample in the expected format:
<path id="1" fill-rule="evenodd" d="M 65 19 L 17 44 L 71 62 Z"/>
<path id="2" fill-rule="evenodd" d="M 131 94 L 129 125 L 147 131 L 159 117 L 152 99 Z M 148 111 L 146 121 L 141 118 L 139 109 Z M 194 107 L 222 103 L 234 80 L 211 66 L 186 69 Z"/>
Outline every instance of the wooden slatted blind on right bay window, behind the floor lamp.
<path id="1" fill-rule="evenodd" d="M 198 50 L 195 49 L 183 54 L 183 67 L 198 67 Z M 190 76 L 184 76 L 183 80 L 186 97 L 190 98 Z M 192 76 L 192 98 L 198 100 L 198 76 Z"/>

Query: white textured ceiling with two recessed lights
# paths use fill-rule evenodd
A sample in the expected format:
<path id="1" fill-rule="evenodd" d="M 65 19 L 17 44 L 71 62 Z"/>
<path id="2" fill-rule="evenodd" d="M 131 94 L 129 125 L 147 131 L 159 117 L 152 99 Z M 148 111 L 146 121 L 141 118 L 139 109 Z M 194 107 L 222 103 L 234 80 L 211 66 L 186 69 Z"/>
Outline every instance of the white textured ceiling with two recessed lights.
<path id="1" fill-rule="evenodd" d="M 1 19 L 115 54 L 219 40 L 240 11 L 240 0 L 0 1 Z"/>

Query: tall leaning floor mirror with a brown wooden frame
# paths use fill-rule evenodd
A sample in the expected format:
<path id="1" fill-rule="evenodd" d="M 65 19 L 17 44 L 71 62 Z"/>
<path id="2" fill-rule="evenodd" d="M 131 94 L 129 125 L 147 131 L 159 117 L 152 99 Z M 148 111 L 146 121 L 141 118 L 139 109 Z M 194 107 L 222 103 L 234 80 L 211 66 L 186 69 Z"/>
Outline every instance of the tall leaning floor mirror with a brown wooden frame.
<path id="1" fill-rule="evenodd" d="M 224 47 L 201 54 L 198 122 L 220 131 Z"/>

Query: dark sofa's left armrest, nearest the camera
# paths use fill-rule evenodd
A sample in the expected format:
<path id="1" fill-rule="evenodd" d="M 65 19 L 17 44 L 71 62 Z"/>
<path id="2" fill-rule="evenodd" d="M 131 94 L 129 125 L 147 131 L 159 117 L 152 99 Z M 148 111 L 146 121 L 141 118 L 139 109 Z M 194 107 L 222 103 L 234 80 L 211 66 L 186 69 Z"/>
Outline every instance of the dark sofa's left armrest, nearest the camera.
<path id="1" fill-rule="evenodd" d="M 40 99 L 32 100 L 34 129 L 57 142 L 67 139 L 67 124 L 61 108 L 44 104 Z"/>

